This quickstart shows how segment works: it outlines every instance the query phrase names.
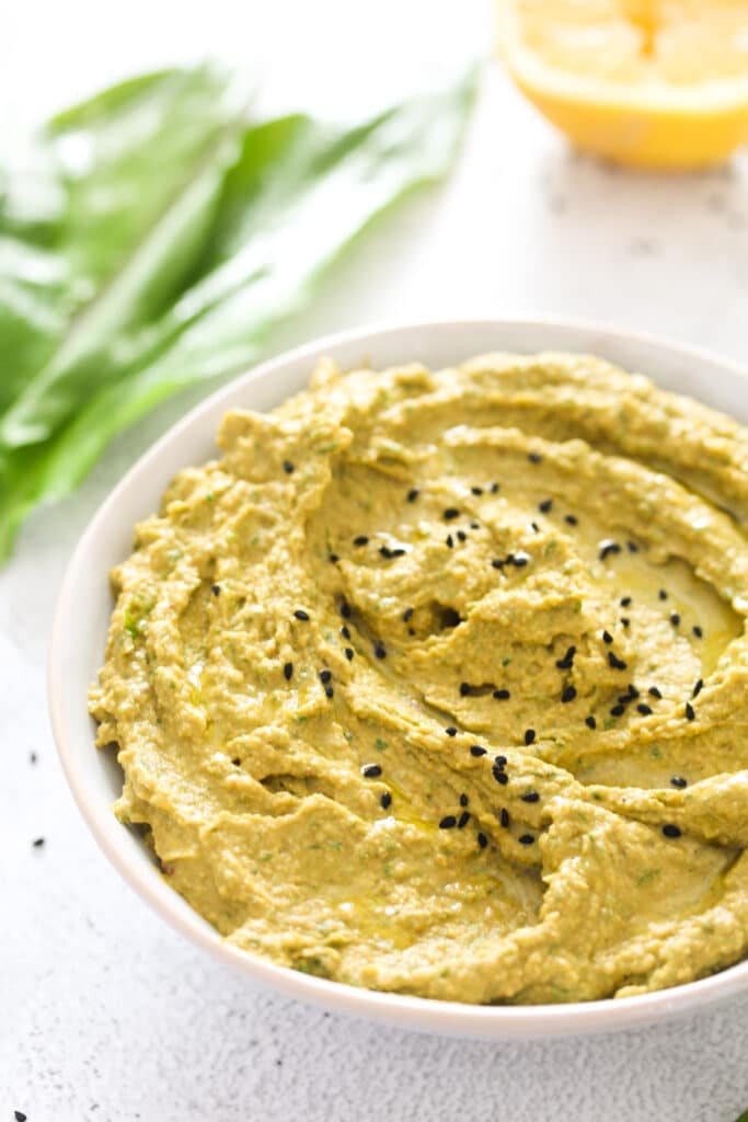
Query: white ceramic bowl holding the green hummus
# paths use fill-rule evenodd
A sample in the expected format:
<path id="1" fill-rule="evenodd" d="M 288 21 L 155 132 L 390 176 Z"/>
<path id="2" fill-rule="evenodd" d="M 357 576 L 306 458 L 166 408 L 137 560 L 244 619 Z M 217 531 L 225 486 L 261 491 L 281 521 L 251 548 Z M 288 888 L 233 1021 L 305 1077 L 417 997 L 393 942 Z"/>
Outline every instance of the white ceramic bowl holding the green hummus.
<path id="1" fill-rule="evenodd" d="M 48 664 L 52 724 L 81 812 L 112 864 L 178 931 L 256 982 L 327 1009 L 431 1032 L 530 1038 L 611 1031 L 653 1022 L 726 999 L 748 987 L 748 962 L 659 993 L 567 1005 L 474 1006 L 359 990 L 274 966 L 223 942 L 157 872 L 146 847 L 120 825 L 111 803 L 121 773 L 94 747 L 86 690 L 104 654 L 112 608 L 108 570 L 130 552 L 132 527 L 158 507 L 176 471 L 215 454 L 223 413 L 269 410 L 307 381 L 315 359 L 343 367 L 419 360 L 440 367 L 489 350 L 588 351 L 649 375 L 748 423 L 748 375 L 714 356 L 643 335 L 551 320 L 418 323 L 349 331 L 310 343 L 249 370 L 169 430 L 124 476 L 98 511 L 67 569 L 54 619 Z M 73 636 L 73 641 L 71 637 Z"/>

